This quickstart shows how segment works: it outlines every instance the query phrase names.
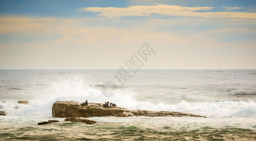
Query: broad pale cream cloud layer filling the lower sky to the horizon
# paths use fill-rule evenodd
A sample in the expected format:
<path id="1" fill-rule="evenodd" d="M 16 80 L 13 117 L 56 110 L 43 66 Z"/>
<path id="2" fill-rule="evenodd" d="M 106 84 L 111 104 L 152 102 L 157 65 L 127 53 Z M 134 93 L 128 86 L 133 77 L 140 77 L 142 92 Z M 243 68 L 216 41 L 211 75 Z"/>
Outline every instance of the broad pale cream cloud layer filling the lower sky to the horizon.
<path id="1" fill-rule="evenodd" d="M 103 24 L 87 25 L 87 21 Z M 193 24 L 206 25 L 216 20 L 139 20 L 132 26 L 103 26 L 109 21 L 133 22 L 106 18 L 0 16 L 0 35 L 11 34 L 12 39 L 11 42 L 0 40 L 1 69 L 119 69 L 145 42 L 157 54 L 143 69 L 256 68 L 252 61 L 256 59 L 253 39 L 219 40 L 239 34 L 239 37 L 255 35 L 256 31 L 246 26 L 233 29 L 222 26 L 223 29 L 208 32 L 185 29 L 175 33 L 168 27 L 185 25 L 192 29 Z M 56 35 L 60 36 L 55 38 Z M 28 37 L 44 40 L 26 41 Z M 17 40 L 19 38 L 24 40 Z"/>

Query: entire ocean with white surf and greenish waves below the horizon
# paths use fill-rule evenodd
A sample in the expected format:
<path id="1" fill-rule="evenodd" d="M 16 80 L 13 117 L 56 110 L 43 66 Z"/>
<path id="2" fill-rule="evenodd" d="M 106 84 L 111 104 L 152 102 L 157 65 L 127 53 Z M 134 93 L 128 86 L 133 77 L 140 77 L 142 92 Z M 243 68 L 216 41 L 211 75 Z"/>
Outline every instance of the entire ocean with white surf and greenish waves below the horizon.
<path id="1" fill-rule="evenodd" d="M 123 86 L 116 72 L 0 70 L 0 140 L 256 140 L 256 70 L 139 70 Z M 113 97 L 101 92 L 107 81 L 117 85 Z M 64 100 L 207 118 L 91 117 L 97 123 L 87 125 L 52 117 L 53 103 Z M 60 122 L 37 125 L 47 120 Z"/>

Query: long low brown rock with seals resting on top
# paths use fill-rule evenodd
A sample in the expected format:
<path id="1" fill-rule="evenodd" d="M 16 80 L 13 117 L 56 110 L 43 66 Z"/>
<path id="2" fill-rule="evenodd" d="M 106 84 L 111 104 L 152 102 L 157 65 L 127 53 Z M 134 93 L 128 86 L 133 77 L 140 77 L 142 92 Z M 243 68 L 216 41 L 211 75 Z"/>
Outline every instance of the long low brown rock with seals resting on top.
<path id="1" fill-rule="evenodd" d="M 82 106 L 75 101 L 55 102 L 52 106 L 52 116 L 58 118 L 89 118 L 89 117 L 133 117 L 133 116 L 149 116 L 149 117 L 203 117 L 199 115 L 187 114 L 182 112 L 169 111 L 149 111 L 149 110 L 127 110 L 120 107 L 105 108 L 102 103 L 88 103 Z"/>

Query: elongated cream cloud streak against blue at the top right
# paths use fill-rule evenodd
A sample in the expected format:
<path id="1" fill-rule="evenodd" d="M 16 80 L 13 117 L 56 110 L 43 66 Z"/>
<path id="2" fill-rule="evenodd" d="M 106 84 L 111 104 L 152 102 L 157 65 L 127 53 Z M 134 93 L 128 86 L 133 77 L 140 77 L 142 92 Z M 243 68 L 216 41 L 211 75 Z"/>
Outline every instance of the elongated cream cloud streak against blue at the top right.
<path id="1" fill-rule="evenodd" d="M 122 16 L 186 16 L 203 18 L 246 18 L 256 19 L 256 13 L 244 12 L 205 12 L 214 7 L 182 7 L 175 5 L 157 4 L 151 6 L 130 6 L 128 8 L 116 7 L 87 7 L 79 8 L 78 12 L 99 13 L 97 16 L 122 17 Z"/>

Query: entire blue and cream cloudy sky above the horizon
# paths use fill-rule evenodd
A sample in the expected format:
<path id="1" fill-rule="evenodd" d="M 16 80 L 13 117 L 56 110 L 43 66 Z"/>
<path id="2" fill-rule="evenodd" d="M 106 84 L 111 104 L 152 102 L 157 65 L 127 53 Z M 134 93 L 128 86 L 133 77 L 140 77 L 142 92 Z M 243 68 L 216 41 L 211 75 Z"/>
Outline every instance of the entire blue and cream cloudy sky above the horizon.
<path id="1" fill-rule="evenodd" d="M 119 69 L 133 55 L 141 69 L 256 69 L 256 0 L 0 0 L 0 69 Z"/>

